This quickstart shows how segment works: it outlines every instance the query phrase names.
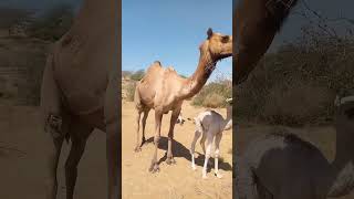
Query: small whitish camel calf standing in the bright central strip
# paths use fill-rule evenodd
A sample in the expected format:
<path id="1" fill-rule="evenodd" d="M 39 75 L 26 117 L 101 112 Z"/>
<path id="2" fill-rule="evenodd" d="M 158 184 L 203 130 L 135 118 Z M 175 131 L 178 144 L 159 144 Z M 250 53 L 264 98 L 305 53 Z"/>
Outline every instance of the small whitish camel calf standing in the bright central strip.
<path id="1" fill-rule="evenodd" d="M 227 103 L 230 104 L 232 98 L 227 98 Z M 196 170 L 195 164 L 195 147 L 198 138 L 201 136 L 200 146 L 205 154 L 205 161 L 202 167 L 202 178 L 207 178 L 207 164 L 209 161 L 211 155 L 211 144 L 215 138 L 215 175 L 218 178 L 222 178 L 222 175 L 219 172 L 219 153 L 220 153 L 220 142 L 222 137 L 222 132 L 228 130 L 232 127 L 232 106 L 227 106 L 227 117 L 222 118 L 222 116 L 212 109 L 207 109 L 198 114 L 195 117 L 196 132 L 195 137 L 191 142 L 190 146 L 190 155 L 191 155 L 191 168 Z M 207 140 L 207 150 L 205 147 L 205 143 Z"/>

